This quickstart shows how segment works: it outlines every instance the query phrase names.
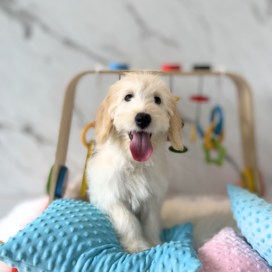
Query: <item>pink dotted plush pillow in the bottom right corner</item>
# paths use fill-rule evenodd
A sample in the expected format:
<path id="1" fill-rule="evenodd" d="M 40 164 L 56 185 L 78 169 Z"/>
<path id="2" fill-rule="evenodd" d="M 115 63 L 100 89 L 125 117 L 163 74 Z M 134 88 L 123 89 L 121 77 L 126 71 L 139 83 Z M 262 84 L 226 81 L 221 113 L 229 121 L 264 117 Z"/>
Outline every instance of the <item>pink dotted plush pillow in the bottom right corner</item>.
<path id="1" fill-rule="evenodd" d="M 222 229 L 197 251 L 200 272 L 271 272 L 272 267 L 232 228 Z"/>

